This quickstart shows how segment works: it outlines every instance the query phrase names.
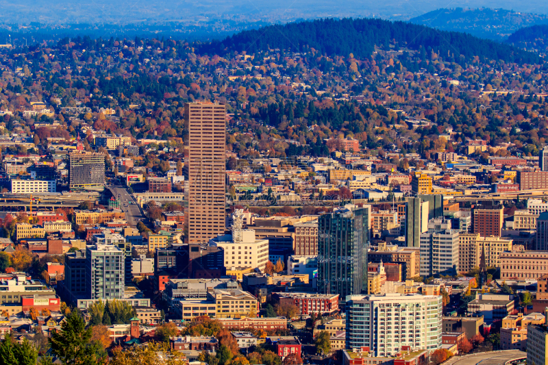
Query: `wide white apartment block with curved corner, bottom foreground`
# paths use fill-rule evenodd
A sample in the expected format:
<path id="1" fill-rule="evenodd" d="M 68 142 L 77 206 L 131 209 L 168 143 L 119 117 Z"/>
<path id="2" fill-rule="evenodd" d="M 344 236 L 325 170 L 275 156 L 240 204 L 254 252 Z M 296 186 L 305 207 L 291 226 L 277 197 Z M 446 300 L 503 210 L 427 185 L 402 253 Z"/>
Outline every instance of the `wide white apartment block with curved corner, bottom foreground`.
<path id="1" fill-rule="evenodd" d="M 347 349 L 369 347 L 394 356 L 402 346 L 433 351 L 442 345 L 442 297 L 421 294 L 349 295 Z"/>

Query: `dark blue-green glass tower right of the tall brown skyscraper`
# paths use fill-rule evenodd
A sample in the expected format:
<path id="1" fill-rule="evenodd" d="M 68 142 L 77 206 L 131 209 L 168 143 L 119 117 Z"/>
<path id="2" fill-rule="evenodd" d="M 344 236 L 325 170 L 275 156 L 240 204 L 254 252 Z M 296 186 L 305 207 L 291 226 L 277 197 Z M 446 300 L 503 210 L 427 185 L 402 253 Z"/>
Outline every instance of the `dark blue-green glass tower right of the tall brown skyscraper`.
<path id="1" fill-rule="evenodd" d="M 318 218 L 318 289 L 321 294 L 367 291 L 371 206 L 346 205 Z"/>

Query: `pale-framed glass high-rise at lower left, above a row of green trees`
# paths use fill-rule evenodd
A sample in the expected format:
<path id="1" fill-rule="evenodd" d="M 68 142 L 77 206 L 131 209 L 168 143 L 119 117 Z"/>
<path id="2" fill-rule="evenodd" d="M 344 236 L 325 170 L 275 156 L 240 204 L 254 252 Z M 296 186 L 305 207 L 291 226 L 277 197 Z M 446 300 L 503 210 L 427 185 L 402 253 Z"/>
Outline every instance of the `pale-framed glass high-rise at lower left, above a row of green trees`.
<path id="1" fill-rule="evenodd" d="M 124 252 L 112 244 L 86 247 L 86 299 L 123 299 Z"/>

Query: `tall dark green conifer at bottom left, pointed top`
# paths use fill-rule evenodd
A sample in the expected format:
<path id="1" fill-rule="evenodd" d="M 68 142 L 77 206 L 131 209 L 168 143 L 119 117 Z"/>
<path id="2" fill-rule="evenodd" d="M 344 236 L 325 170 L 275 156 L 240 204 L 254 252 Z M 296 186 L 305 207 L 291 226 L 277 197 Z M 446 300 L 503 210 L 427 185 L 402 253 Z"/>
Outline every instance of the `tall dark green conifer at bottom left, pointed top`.
<path id="1" fill-rule="evenodd" d="M 60 331 L 51 333 L 51 352 L 63 365 L 97 365 L 102 357 L 97 343 L 91 342 L 91 327 L 77 311 L 71 312 Z"/>

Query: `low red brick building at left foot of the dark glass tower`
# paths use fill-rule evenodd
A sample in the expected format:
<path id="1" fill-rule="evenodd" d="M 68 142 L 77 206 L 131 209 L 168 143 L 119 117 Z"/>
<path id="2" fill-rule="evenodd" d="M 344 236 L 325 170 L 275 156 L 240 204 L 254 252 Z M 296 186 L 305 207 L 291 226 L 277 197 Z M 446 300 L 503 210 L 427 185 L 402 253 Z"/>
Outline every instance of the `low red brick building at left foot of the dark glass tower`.
<path id="1" fill-rule="evenodd" d="M 338 311 L 338 294 L 272 293 L 280 303 L 288 302 L 299 307 L 299 314 L 331 314 Z"/>

